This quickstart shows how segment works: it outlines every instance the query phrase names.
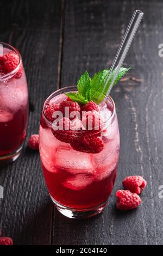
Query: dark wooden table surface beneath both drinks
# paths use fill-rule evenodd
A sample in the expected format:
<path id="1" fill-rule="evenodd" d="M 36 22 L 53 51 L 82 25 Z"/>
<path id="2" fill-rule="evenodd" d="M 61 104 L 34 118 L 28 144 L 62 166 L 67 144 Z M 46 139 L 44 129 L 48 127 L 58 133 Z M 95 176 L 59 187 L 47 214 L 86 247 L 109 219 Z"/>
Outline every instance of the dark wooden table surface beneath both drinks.
<path id="1" fill-rule="evenodd" d="M 163 244 L 163 2 L 28 0 L 0 2 L 0 40 L 20 50 L 26 69 L 29 137 L 37 133 L 43 100 L 111 65 L 135 9 L 145 15 L 124 66 L 127 81 L 112 90 L 121 133 L 121 157 L 114 191 L 104 212 L 90 220 L 70 220 L 55 210 L 43 180 L 39 153 L 27 147 L 1 169 L 0 226 L 15 245 Z M 116 210 L 115 192 L 127 175 L 147 180 L 139 209 Z"/>

